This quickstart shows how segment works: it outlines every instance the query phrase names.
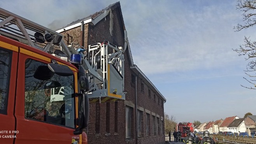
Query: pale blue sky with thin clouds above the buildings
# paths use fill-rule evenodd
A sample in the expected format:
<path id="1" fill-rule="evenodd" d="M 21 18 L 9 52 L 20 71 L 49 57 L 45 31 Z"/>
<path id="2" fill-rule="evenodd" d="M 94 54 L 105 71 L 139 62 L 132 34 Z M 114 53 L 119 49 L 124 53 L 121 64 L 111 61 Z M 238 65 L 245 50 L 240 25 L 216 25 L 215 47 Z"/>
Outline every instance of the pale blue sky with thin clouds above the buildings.
<path id="1" fill-rule="evenodd" d="M 89 16 L 115 0 L 0 0 L 0 7 L 51 29 Z M 120 0 L 134 64 L 167 99 L 177 122 L 256 115 L 255 90 L 243 77 L 248 61 L 233 49 L 254 28 L 242 24 L 236 0 Z"/>

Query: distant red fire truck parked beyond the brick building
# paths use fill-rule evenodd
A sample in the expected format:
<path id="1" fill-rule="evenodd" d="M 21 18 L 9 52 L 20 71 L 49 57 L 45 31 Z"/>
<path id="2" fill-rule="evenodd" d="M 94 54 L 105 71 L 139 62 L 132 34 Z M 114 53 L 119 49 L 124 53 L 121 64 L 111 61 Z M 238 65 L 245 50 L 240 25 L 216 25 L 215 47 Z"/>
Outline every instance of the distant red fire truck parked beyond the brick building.
<path id="1" fill-rule="evenodd" d="M 181 139 L 184 139 L 185 134 L 189 134 L 190 132 L 194 132 L 194 124 L 189 122 L 178 123 L 176 126 L 177 132 L 181 132 Z"/>

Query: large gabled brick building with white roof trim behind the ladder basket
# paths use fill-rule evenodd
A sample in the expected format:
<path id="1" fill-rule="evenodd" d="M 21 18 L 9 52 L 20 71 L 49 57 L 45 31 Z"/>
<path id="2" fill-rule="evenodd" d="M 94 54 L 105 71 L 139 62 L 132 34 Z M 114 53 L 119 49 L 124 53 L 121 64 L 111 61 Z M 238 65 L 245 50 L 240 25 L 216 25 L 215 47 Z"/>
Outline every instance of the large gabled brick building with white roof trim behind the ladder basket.
<path id="1" fill-rule="evenodd" d="M 82 31 L 82 32 L 81 32 Z M 121 6 L 116 2 L 88 17 L 58 29 L 67 44 L 88 47 L 107 40 L 124 51 L 125 100 L 90 103 L 90 144 L 160 144 L 165 143 L 165 97 L 142 71 L 133 64 L 126 36 Z M 135 49 L 135 48 L 134 48 Z"/>

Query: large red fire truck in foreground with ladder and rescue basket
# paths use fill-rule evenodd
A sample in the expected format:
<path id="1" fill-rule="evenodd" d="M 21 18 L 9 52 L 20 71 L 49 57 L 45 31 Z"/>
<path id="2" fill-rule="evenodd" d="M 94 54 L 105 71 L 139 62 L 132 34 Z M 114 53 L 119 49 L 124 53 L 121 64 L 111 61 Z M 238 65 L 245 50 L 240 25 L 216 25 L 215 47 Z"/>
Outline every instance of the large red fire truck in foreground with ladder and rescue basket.
<path id="1" fill-rule="evenodd" d="M 123 61 L 0 8 L 0 142 L 87 144 L 89 101 L 125 99 Z"/>

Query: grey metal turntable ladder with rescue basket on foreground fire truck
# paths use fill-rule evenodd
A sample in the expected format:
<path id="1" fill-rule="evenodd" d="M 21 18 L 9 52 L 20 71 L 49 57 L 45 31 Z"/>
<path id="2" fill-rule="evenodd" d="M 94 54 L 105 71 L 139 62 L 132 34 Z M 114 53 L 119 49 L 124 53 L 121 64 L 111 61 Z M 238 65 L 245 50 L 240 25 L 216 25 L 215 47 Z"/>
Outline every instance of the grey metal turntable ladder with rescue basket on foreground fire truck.
<path id="1" fill-rule="evenodd" d="M 82 66 L 89 79 L 90 90 L 86 93 L 90 102 L 125 99 L 122 47 L 107 41 L 89 45 L 88 49 L 75 43 L 67 46 L 60 33 L 2 8 L 0 8 L 0 35 L 68 62 L 72 54 L 80 54 Z"/>

